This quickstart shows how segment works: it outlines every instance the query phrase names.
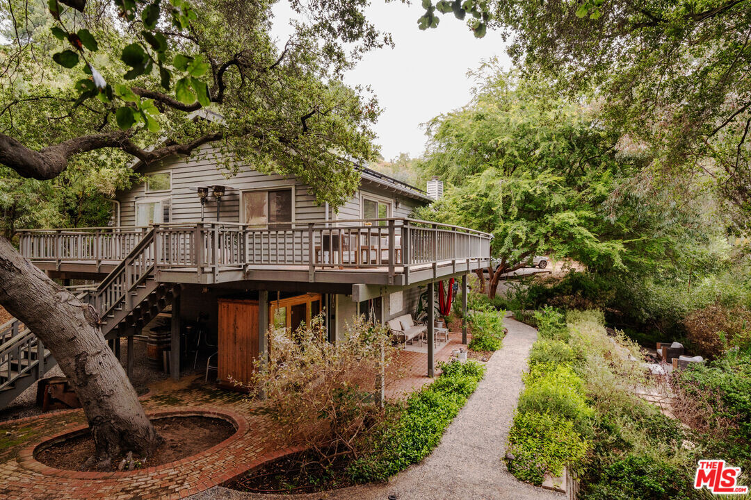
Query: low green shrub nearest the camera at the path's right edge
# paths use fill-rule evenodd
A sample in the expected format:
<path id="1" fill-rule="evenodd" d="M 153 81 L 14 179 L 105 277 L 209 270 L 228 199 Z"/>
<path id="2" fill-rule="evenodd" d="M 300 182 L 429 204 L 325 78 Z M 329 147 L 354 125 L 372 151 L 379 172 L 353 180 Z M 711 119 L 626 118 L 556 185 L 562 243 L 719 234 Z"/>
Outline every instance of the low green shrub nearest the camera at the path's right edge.
<path id="1" fill-rule="evenodd" d="M 508 442 L 508 452 L 512 455 L 507 461 L 509 472 L 538 486 L 546 473 L 558 476 L 563 466 L 577 468 L 589 448 L 571 421 L 538 412 L 518 411 Z"/>

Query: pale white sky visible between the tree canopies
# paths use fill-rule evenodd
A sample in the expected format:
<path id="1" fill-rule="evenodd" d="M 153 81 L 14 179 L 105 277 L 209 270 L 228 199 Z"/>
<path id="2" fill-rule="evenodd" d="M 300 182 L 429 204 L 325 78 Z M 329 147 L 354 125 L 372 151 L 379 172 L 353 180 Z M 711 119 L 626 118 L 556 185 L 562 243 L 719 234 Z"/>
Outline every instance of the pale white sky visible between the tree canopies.
<path id="1" fill-rule="evenodd" d="M 467 70 L 493 56 L 503 67 L 511 67 L 498 31 L 475 38 L 465 22 L 451 14 L 441 16 L 438 28 L 420 31 L 418 18 L 424 9 L 419 1 L 408 5 L 375 0 L 366 13 L 376 27 L 391 32 L 396 46 L 366 54 L 345 75 L 345 82 L 370 85 L 378 97 L 384 111 L 375 124 L 375 140 L 386 160 L 400 153 L 421 156 L 426 140 L 421 124 L 469 101 L 473 82 Z M 294 13 L 280 1 L 274 14 L 273 34 L 283 44 Z"/>

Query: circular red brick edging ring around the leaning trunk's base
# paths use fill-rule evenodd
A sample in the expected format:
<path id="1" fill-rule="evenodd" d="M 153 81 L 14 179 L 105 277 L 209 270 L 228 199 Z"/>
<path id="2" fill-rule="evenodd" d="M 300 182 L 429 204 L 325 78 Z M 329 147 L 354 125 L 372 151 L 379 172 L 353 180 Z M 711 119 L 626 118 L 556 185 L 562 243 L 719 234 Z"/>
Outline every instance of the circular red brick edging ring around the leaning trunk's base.
<path id="1" fill-rule="evenodd" d="M 62 410 L 61 412 L 70 412 L 75 410 Z M 217 443 L 207 450 L 201 451 L 201 453 L 185 457 L 180 460 L 175 460 L 170 463 L 164 463 L 159 466 L 147 467 L 146 469 L 137 469 L 135 471 L 116 471 L 116 472 L 82 472 L 68 469 L 55 469 L 50 466 L 44 465 L 34 457 L 35 450 L 44 445 L 47 442 L 60 439 L 63 436 L 68 436 L 72 433 L 78 433 L 80 431 L 89 428 L 88 424 L 77 424 L 75 427 L 66 426 L 65 430 L 57 433 L 53 436 L 44 436 L 44 438 L 37 439 L 31 445 L 23 448 L 18 454 L 18 463 L 26 469 L 38 472 L 43 475 L 58 476 L 61 478 L 73 478 L 73 479 L 110 479 L 110 478 L 135 478 L 140 475 L 150 475 L 154 472 L 158 472 L 164 469 L 170 469 L 180 464 L 189 463 L 195 460 L 201 460 L 201 458 L 207 457 L 210 454 L 214 454 L 223 448 L 228 447 L 233 442 L 237 441 L 241 437 L 245 436 L 248 432 L 249 424 L 243 415 L 237 412 L 233 412 L 228 409 L 216 410 L 210 408 L 201 407 L 176 407 L 172 409 L 164 409 L 158 412 L 149 412 L 146 414 L 149 418 L 169 418 L 177 416 L 201 416 L 210 418 L 222 418 L 226 421 L 230 421 L 235 426 L 235 433 L 225 439 L 224 441 Z M 29 417 L 34 418 L 34 417 Z M 19 419 L 25 420 L 25 419 Z"/>

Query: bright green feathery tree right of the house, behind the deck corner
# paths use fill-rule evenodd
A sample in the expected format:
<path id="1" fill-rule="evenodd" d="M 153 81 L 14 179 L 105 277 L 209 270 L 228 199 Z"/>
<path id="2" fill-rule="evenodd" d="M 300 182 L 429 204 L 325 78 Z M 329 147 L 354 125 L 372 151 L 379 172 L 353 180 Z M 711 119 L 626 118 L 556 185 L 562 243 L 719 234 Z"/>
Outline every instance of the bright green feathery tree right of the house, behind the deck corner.
<path id="1" fill-rule="evenodd" d="M 553 97 L 543 79 L 484 70 L 471 103 L 430 123 L 422 168 L 449 186 L 420 217 L 493 234 L 490 297 L 502 274 L 541 253 L 623 266 L 627 232 L 602 207 L 640 160 L 620 154 L 592 109 Z"/>

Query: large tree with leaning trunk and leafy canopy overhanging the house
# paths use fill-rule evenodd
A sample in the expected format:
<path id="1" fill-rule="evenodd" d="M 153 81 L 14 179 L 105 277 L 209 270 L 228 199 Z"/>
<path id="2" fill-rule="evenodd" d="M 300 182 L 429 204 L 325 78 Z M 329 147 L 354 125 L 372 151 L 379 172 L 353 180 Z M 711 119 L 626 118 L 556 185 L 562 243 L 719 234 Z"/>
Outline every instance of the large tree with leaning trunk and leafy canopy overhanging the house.
<path id="1" fill-rule="evenodd" d="M 224 153 L 225 166 L 297 175 L 321 202 L 357 186 L 375 158 L 375 99 L 342 83 L 391 43 L 366 0 L 292 0 L 304 14 L 281 48 L 274 1 L 9 0 L 2 4 L 0 165 L 59 178 L 103 151 L 143 163 Z M 50 57 L 51 54 L 51 57 Z M 231 159 L 231 160 L 229 160 Z M 106 160 L 104 160 L 106 163 Z M 154 428 L 86 304 L 0 238 L 0 304 L 44 342 L 81 400 L 107 466 L 149 455 Z"/>

